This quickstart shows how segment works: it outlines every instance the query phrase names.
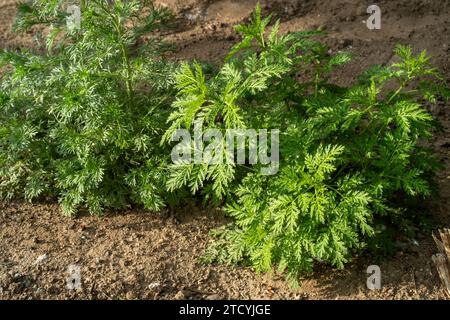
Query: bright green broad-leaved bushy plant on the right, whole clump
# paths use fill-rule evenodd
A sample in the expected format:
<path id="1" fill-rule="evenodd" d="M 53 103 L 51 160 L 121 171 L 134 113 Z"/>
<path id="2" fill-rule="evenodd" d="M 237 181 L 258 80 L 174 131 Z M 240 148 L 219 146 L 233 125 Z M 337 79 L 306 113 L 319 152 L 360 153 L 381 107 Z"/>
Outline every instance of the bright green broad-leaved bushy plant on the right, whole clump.
<path id="1" fill-rule="evenodd" d="M 431 195 L 438 159 L 421 142 L 435 121 L 422 102 L 448 98 L 448 90 L 432 81 L 440 77 L 427 54 L 406 46 L 396 47 L 397 63 L 338 87 L 330 74 L 348 54 L 329 55 L 314 32 L 279 35 L 278 22 L 267 32 L 269 21 L 258 6 L 250 25 L 236 28 L 243 41 L 216 74 L 182 66 L 164 141 L 195 123 L 278 128 L 280 172 L 179 162 L 168 188 L 227 199 L 235 222 L 213 232 L 205 262 L 246 262 L 263 272 L 276 265 L 295 282 L 315 261 L 343 267 L 374 236 L 376 220 L 407 220 L 405 204 Z"/>

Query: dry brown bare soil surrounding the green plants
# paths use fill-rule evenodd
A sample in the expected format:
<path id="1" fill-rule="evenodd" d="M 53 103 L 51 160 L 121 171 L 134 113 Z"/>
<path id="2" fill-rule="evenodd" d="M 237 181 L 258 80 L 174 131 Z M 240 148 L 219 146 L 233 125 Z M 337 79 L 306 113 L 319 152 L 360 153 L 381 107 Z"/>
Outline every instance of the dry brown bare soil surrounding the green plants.
<path id="1" fill-rule="evenodd" d="M 0 48 L 29 44 L 10 29 L 13 0 L 0 1 Z M 232 30 L 249 18 L 255 0 L 159 0 L 177 16 L 167 35 L 178 59 L 219 63 L 238 38 Z M 271 0 L 265 12 L 282 19 L 282 30 L 322 27 L 333 51 L 356 57 L 335 75 L 351 83 L 372 64 L 388 63 L 397 43 L 427 49 L 450 78 L 450 1 L 380 0 L 381 30 L 362 22 L 369 1 Z M 432 144 L 444 161 L 440 197 L 429 204 L 435 228 L 450 226 L 450 108 L 431 110 L 445 132 Z M 281 278 L 258 276 L 243 267 L 203 266 L 198 258 L 208 232 L 224 223 L 219 212 L 187 207 L 176 215 L 133 210 L 103 218 L 70 219 L 55 204 L 0 204 L 0 299 L 445 299 L 431 255 L 431 235 L 399 241 L 397 253 L 379 263 L 382 289 L 369 291 L 366 269 L 377 264 L 362 255 L 344 271 L 319 267 L 292 289 Z M 66 288 L 69 265 L 81 267 L 82 289 Z"/>

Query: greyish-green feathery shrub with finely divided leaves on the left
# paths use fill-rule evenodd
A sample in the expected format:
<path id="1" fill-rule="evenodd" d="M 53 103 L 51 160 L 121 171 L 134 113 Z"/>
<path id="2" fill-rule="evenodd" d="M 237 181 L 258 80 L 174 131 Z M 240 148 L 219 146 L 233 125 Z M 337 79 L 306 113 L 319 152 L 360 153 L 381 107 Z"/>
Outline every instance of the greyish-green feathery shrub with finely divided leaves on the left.
<path id="1" fill-rule="evenodd" d="M 16 27 L 45 36 L 34 52 L 0 55 L 0 195 L 57 196 L 66 214 L 158 210 L 174 66 L 158 38 L 143 45 L 142 36 L 169 12 L 151 1 L 79 1 L 77 28 L 66 23 L 73 3 L 20 5 Z"/>

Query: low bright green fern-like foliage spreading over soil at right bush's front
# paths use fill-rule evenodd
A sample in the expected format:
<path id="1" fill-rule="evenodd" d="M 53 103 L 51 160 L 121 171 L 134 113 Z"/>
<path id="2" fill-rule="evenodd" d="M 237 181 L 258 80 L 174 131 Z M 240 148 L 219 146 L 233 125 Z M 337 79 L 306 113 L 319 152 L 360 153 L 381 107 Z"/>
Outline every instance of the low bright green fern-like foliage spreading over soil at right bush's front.
<path id="1" fill-rule="evenodd" d="M 248 259 L 258 272 L 273 265 L 294 283 L 314 260 L 343 267 L 349 251 L 370 236 L 372 201 L 360 175 L 335 179 L 344 148 L 320 146 L 303 165 L 290 165 L 276 179 L 249 175 L 227 207 L 234 228 L 215 234 L 219 240 L 205 261 L 238 263 Z"/>

